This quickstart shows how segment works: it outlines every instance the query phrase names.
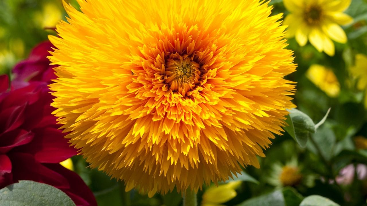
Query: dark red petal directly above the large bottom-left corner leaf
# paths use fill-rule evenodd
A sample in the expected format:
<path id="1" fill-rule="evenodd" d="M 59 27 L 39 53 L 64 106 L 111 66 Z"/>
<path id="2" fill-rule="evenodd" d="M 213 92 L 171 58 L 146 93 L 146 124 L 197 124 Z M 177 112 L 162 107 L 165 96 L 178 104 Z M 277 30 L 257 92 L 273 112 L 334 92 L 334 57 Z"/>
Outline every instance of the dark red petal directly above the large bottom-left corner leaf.
<path id="1" fill-rule="evenodd" d="M 12 152 L 9 155 L 13 163 L 12 174 L 14 181 L 32 180 L 61 188 L 69 188 L 68 180 L 61 174 L 47 168 L 30 154 Z"/>

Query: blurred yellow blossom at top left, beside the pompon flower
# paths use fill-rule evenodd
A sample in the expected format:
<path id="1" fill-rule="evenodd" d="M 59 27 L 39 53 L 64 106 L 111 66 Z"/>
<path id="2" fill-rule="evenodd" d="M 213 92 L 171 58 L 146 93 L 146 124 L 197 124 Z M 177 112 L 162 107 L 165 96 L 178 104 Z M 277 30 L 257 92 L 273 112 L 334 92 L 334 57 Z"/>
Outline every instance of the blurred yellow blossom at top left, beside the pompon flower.
<path id="1" fill-rule="evenodd" d="M 34 21 L 41 28 L 55 27 L 61 18 L 62 12 L 60 6 L 52 2 L 44 4 L 42 11 L 34 14 Z"/>

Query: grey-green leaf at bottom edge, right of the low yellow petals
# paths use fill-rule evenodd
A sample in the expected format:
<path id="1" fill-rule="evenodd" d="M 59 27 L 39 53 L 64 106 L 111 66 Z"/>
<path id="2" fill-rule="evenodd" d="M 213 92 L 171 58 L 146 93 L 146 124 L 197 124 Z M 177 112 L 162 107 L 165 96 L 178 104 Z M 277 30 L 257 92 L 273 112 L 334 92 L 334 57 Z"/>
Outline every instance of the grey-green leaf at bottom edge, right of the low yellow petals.
<path id="1" fill-rule="evenodd" d="M 277 190 L 270 194 L 248 199 L 237 206 L 286 206 L 286 203 L 284 201 L 283 192 Z"/>

